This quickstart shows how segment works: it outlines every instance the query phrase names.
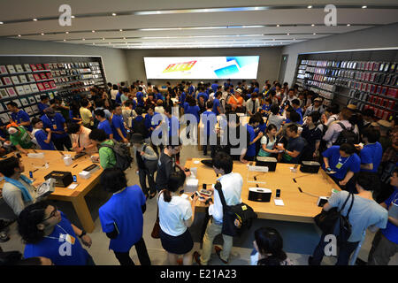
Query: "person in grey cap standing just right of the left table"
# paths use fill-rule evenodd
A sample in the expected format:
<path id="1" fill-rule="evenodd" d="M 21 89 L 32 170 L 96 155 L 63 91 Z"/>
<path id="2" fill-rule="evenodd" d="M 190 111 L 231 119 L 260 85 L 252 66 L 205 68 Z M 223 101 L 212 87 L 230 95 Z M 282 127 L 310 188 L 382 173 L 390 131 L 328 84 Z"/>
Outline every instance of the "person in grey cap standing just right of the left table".
<path id="1" fill-rule="evenodd" d="M 134 161 L 138 168 L 142 192 L 147 199 L 148 197 L 153 198 L 157 195 L 157 187 L 154 180 L 155 172 L 157 172 L 157 153 L 144 142 L 142 134 L 133 134 L 131 142 L 133 143 Z M 147 187 L 147 176 L 149 189 Z"/>

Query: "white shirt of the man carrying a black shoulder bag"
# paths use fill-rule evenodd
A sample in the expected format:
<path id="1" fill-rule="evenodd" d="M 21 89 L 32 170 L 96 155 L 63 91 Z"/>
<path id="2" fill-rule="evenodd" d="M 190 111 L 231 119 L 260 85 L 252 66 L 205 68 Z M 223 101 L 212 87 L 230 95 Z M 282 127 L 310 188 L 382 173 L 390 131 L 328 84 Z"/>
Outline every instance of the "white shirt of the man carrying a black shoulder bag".
<path id="1" fill-rule="evenodd" d="M 218 180 L 221 183 L 221 189 L 226 198 L 226 205 L 241 203 L 241 187 L 243 186 L 241 174 L 230 172 L 218 178 Z M 223 222 L 223 204 L 216 189 L 214 189 L 214 204 L 209 206 L 209 215 L 212 215 L 218 223 Z"/>

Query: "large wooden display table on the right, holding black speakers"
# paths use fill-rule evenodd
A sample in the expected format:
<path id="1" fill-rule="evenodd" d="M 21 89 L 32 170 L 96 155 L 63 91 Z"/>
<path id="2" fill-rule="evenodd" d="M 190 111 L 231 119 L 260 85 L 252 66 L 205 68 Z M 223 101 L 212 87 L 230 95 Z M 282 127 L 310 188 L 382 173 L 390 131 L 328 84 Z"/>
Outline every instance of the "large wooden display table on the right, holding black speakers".
<path id="1" fill-rule="evenodd" d="M 193 158 L 187 160 L 186 167 L 197 168 L 197 179 L 199 180 L 199 189 L 202 188 L 203 183 L 214 184 L 218 177 L 213 169 L 205 166 L 202 163 L 195 164 L 195 161 L 203 160 L 201 158 Z M 297 172 L 291 172 L 290 167 L 293 164 L 277 164 L 275 172 L 260 173 L 256 172 L 257 182 L 251 177 L 248 181 L 247 164 L 241 162 L 233 162 L 233 172 L 241 173 L 243 179 L 243 187 L 241 191 L 241 200 L 243 203 L 249 204 L 258 215 L 258 218 L 266 218 L 272 220 L 283 220 L 293 222 L 313 223 L 313 217 L 316 216 L 322 208 L 318 207 L 318 197 L 300 193 L 298 187 L 302 188 L 305 193 L 319 196 L 332 195 L 332 188 L 340 190 L 340 188 L 333 182 L 333 180 L 322 170 L 319 169 L 318 174 L 309 174 L 308 176 L 296 179 L 293 178 L 307 175 L 297 168 Z M 253 174 L 253 172 L 250 172 Z M 256 175 L 255 174 L 255 175 Z M 220 177 L 220 175 L 219 175 Z M 262 182 L 265 182 L 263 184 Z M 270 203 L 258 203 L 248 200 L 249 187 L 265 187 L 272 190 Z M 281 191 L 280 198 L 285 203 L 284 206 L 276 206 L 273 198 L 276 189 Z M 197 202 L 196 207 L 198 211 L 204 211 L 205 205 L 202 202 Z"/>

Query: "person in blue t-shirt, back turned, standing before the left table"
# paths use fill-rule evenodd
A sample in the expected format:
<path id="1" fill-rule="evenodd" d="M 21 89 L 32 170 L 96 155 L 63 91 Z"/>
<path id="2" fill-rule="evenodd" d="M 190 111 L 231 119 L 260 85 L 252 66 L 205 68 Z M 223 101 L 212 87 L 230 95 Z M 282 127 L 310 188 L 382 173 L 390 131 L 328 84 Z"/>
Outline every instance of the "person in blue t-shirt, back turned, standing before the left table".
<path id="1" fill-rule="evenodd" d="M 113 194 L 99 209 L 103 233 L 111 239 L 109 249 L 113 250 L 120 265 L 134 265 L 129 252 L 135 246 L 140 264 L 150 265 L 142 238 L 146 198 L 141 187 L 127 187 L 126 175 L 119 168 L 105 169 L 101 174 L 101 184 Z"/>

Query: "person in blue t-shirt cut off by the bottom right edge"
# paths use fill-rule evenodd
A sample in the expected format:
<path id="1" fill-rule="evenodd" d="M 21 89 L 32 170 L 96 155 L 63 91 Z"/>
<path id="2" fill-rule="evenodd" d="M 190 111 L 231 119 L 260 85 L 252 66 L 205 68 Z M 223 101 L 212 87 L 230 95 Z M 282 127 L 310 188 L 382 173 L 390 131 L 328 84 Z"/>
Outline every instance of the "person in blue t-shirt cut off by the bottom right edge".
<path id="1" fill-rule="evenodd" d="M 391 257 L 398 252 L 398 168 L 395 168 L 390 184 L 394 187 L 394 193 L 384 203 L 380 203 L 390 211 L 387 227 L 380 229 L 371 242 L 369 265 L 388 265 Z"/>

